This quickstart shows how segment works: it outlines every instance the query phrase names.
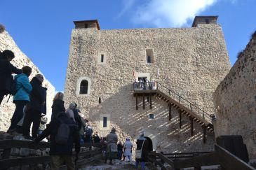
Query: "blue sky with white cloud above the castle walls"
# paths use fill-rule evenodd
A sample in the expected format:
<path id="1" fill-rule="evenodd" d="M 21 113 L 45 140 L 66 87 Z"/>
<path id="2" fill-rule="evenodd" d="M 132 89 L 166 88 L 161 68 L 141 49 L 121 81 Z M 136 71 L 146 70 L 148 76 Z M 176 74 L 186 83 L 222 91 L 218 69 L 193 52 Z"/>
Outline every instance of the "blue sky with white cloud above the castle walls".
<path id="1" fill-rule="evenodd" d="M 74 20 L 97 19 L 101 29 L 191 27 L 195 15 L 219 15 L 232 65 L 256 30 L 256 0 L 1 0 L 0 8 L 0 23 L 57 91 Z"/>

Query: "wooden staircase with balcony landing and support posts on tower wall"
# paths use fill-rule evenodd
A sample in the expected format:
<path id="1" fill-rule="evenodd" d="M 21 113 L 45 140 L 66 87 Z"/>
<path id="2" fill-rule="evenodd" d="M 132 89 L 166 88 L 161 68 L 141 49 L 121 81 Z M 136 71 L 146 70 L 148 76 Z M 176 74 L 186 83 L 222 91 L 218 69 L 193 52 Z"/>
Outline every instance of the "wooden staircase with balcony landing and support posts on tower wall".
<path id="1" fill-rule="evenodd" d="M 191 125 L 191 136 L 194 135 L 194 122 L 201 125 L 203 129 L 203 143 L 206 143 L 206 131 L 214 132 L 213 129 L 213 116 L 203 111 L 198 106 L 191 104 L 191 102 L 184 99 L 179 94 L 176 94 L 172 90 L 168 89 L 167 87 L 161 85 L 161 83 L 154 83 L 157 84 L 155 90 L 144 90 L 144 89 L 135 89 L 134 96 L 136 97 L 136 109 L 138 109 L 138 102 L 137 98 L 139 96 L 143 97 L 143 109 L 145 108 L 144 104 L 144 97 L 149 97 L 150 102 L 150 109 L 152 108 L 151 97 L 156 95 L 159 99 L 166 101 L 169 107 L 169 120 L 172 119 L 171 109 L 176 108 L 180 115 L 180 128 L 182 128 L 182 115 L 189 117 L 190 125 Z M 134 86 L 135 87 L 135 86 Z"/>

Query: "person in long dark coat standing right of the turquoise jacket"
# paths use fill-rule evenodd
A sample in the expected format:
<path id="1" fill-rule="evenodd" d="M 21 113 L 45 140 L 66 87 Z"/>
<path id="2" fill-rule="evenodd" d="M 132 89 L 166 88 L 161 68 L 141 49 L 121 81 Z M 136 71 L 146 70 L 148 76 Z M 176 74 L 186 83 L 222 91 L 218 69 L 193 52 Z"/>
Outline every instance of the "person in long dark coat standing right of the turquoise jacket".
<path id="1" fill-rule="evenodd" d="M 23 122 L 23 136 L 25 139 L 34 139 L 37 136 L 37 130 L 39 129 L 41 113 L 46 104 L 46 90 L 41 87 L 43 83 L 43 76 L 37 74 L 30 81 L 32 85 L 32 92 L 29 95 L 30 101 L 27 104 L 27 111 Z M 33 122 L 32 137 L 29 136 L 30 126 Z"/>

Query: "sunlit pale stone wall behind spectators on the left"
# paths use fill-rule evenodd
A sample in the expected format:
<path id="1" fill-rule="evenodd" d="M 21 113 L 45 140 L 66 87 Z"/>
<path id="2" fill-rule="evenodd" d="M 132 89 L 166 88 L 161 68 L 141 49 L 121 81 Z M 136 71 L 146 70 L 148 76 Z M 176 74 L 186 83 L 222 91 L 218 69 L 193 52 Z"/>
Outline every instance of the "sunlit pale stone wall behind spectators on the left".
<path id="1" fill-rule="evenodd" d="M 16 45 L 15 41 L 7 31 L 0 33 L 0 50 L 12 50 L 15 54 L 15 58 L 11 62 L 14 66 L 17 66 L 19 69 L 22 66 L 30 66 L 32 67 L 32 74 L 29 76 L 31 80 L 33 76 L 37 73 L 41 73 L 39 69 L 34 65 L 34 63 L 27 57 Z M 51 115 L 51 105 L 53 104 L 53 97 L 55 94 L 55 87 L 45 78 L 43 81 L 43 87 L 48 88 L 47 90 L 47 117 L 50 120 Z M 13 112 L 15 110 L 15 104 L 13 104 L 12 98 L 8 102 L 7 97 L 4 98 L 1 106 L 0 106 L 0 131 L 6 131 L 10 126 L 10 119 L 13 116 Z"/>

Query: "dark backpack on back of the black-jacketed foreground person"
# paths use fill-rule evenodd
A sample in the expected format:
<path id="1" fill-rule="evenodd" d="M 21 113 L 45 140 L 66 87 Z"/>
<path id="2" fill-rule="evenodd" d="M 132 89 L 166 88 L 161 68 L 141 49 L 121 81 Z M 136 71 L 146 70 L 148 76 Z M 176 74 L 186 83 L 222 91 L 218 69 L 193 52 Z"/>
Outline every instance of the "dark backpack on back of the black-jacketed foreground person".
<path id="1" fill-rule="evenodd" d="M 55 136 L 55 142 L 60 145 L 65 145 L 69 139 L 70 129 L 69 125 L 67 125 L 65 122 L 62 122 L 62 120 L 60 120 L 60 122 L 61 124 L 58 127 L 58 132 Z"/>

